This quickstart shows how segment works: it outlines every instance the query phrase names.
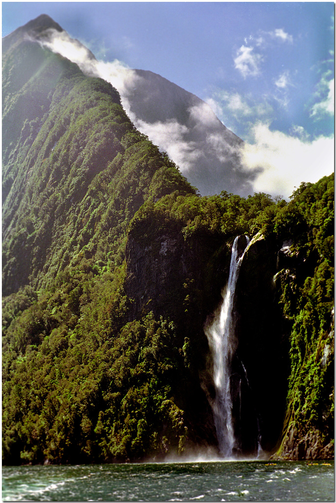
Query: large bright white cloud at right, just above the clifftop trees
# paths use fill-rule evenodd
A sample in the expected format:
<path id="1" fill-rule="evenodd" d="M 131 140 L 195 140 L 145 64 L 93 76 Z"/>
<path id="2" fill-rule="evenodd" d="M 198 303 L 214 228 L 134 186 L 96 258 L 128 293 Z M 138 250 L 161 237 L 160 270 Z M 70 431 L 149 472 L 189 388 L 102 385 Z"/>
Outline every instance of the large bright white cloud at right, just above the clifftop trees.
<path id="1" fill-rule="evenodd" d="M 253 128 L 254 143 L 245 143 L 242 162 L 247 170 L 261 169 L 253 181 L 255 192 L 282 194 L 288 198 L 301 182 L 317 182 L 330 175 L 334 167 L 333 137 L 313 141 L 271 131 L 261 122 Z"/>

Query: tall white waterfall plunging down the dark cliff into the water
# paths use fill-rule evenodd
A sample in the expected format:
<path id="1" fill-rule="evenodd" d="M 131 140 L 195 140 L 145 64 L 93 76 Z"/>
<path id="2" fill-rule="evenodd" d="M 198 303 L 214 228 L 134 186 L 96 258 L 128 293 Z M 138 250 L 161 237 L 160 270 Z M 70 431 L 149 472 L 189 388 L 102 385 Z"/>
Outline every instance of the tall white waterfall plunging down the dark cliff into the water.
<path id="1" fill-rule="evenodd" d="M 213 323 L 205 328 L 213 355 L 213 377 L 216 396 L 212 407 L 220 454 L 232 457 L 237 448 L 232 416 L 232 359 L 237 347 L 235 334 L 234 301 L 239 269 L 249 242 L 247 236 L 237 236 L 232 245 L 230 274 L 226 289 L 222 292 L 223 303 Z M 241 241 L 245 238 L 244 250 Z M 239 248 L 240 253 L 239 254 Z M 240 381 L 241 382 L 241 381 Z"/>

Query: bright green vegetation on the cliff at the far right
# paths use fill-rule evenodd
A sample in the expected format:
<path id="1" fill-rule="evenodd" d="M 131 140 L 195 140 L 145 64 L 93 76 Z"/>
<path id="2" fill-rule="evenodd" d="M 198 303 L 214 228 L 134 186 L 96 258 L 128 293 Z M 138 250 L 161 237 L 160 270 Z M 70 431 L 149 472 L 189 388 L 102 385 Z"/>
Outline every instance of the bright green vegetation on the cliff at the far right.
<path id="1" fill-rule="evenodd" d="M 290 458 L 296 448 L 299 459 L 307 454 L 333 457 L 333 177 L 302 184 L 293 196 L 276 225 L 295 232 L 291 247 L 295 266 L 281 278 L 280 302 L 293 329 L 279 453 Z"/>

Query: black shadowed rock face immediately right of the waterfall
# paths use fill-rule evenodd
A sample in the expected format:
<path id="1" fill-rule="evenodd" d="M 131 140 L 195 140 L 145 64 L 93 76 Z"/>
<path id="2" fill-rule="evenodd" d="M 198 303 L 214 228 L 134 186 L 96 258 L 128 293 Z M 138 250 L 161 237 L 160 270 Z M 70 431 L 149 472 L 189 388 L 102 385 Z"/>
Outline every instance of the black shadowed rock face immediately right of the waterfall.
<path id="1" fill-rule="evenodd" d="M 239 244 L 241 249 L 239 250 Z M 246 246 L 238 240 L 238 257 Z M 267 456 L 278 444 L 286 411 L 291 326 L 278 304 L 274 275 L 279 243 L 257 234 L 243 255 L 232 312 L 230 388 L 237 456 Z M 210 400 L 211 387 L 208 387 Z"/>

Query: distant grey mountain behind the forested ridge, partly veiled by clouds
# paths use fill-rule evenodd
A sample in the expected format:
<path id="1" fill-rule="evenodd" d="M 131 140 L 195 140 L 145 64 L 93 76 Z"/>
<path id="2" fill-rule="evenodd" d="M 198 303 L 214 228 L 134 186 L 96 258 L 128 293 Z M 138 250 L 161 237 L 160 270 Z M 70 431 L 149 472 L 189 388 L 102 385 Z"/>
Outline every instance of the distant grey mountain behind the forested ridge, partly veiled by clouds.
<path id="1" fill-rule="evenodd" d="M 253 173 L 240 161 L 242 140 L 208 104 L 151 71 L 135 70 L 132 80 L 133 89 L 124 94 L 127 113 L 181 166 L 202 195 L 253 192 Z"/>

